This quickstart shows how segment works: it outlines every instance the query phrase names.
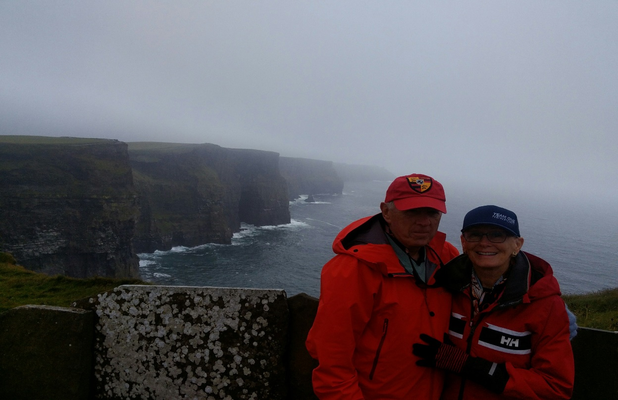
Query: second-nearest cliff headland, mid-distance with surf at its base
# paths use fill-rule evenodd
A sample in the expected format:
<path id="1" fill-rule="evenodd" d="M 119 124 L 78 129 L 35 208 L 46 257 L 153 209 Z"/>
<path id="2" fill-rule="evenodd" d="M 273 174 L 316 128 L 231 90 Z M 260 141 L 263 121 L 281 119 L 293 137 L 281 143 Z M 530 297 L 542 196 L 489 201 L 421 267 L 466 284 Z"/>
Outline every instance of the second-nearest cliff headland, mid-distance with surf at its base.
<path id="1" fill-rule="evenodd" d="M 290 222 L 279 154 L 215 144 L 129 143 L 141 215 L 137 252 L 231 243 L 240 222 Z"/>

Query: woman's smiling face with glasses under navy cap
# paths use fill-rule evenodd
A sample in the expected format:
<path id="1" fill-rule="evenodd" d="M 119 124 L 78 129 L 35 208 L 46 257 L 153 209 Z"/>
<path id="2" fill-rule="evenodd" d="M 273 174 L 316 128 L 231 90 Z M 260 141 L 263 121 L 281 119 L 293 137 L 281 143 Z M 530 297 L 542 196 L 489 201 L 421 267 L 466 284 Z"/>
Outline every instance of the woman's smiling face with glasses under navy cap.
<path id="1" fill-rule="evenodd" d="M 523 246 L 523 238 L 512 236 L 506 230 L 494 225 L 475 225 L 465 230 L 466 234 L 475 233 L 482 235 L 480 241 L 467 241 L 461 236 L 462 249 L 468 253 L 475 270 L 497 269 L 501 273 L 509 269 L 510 259 L 513 253 L 517 254 Z M 499 236 L 497 233 L 506 233 L 507 238 L 502 243 L 489 241 L 489 236 Z"/>

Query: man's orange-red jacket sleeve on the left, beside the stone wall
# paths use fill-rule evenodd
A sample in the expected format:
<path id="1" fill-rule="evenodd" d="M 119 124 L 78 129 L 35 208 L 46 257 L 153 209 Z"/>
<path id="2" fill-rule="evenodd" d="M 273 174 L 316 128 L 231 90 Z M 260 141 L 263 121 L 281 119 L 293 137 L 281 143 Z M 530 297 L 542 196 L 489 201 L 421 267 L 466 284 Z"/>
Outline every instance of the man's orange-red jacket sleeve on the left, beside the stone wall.
<path id="1" fill-rule="evenodd" d="M 319 362 L 313 370 L 313 391 L 321 400 L 364 399 L 353 356 L 371 317 L 377 273 L 344 254 L 324 265 L 318 313 L 306 343 Z"/>

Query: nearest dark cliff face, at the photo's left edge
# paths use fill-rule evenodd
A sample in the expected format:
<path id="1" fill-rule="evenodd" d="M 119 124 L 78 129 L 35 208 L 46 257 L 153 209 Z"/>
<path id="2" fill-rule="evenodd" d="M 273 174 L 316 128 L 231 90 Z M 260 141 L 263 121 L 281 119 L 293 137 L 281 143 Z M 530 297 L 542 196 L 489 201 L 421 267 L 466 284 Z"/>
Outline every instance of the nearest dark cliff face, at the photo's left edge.
<path id="1" fill-rule="evenodd" d="M 138 277 L 127 145 L 0 136 L 0 251 L 49 275 Z"/>

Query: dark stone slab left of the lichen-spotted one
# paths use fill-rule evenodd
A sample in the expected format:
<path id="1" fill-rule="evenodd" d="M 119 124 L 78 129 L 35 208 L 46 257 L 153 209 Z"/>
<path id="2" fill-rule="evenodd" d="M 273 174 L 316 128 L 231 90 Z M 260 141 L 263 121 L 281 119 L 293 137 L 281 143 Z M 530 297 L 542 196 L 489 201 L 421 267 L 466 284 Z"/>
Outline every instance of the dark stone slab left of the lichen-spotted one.
<path id="1" fill-rule="evenodd" d="M 0 399 L 86 400 L 94 313 L 21 306 L 0 314 Z"/>

